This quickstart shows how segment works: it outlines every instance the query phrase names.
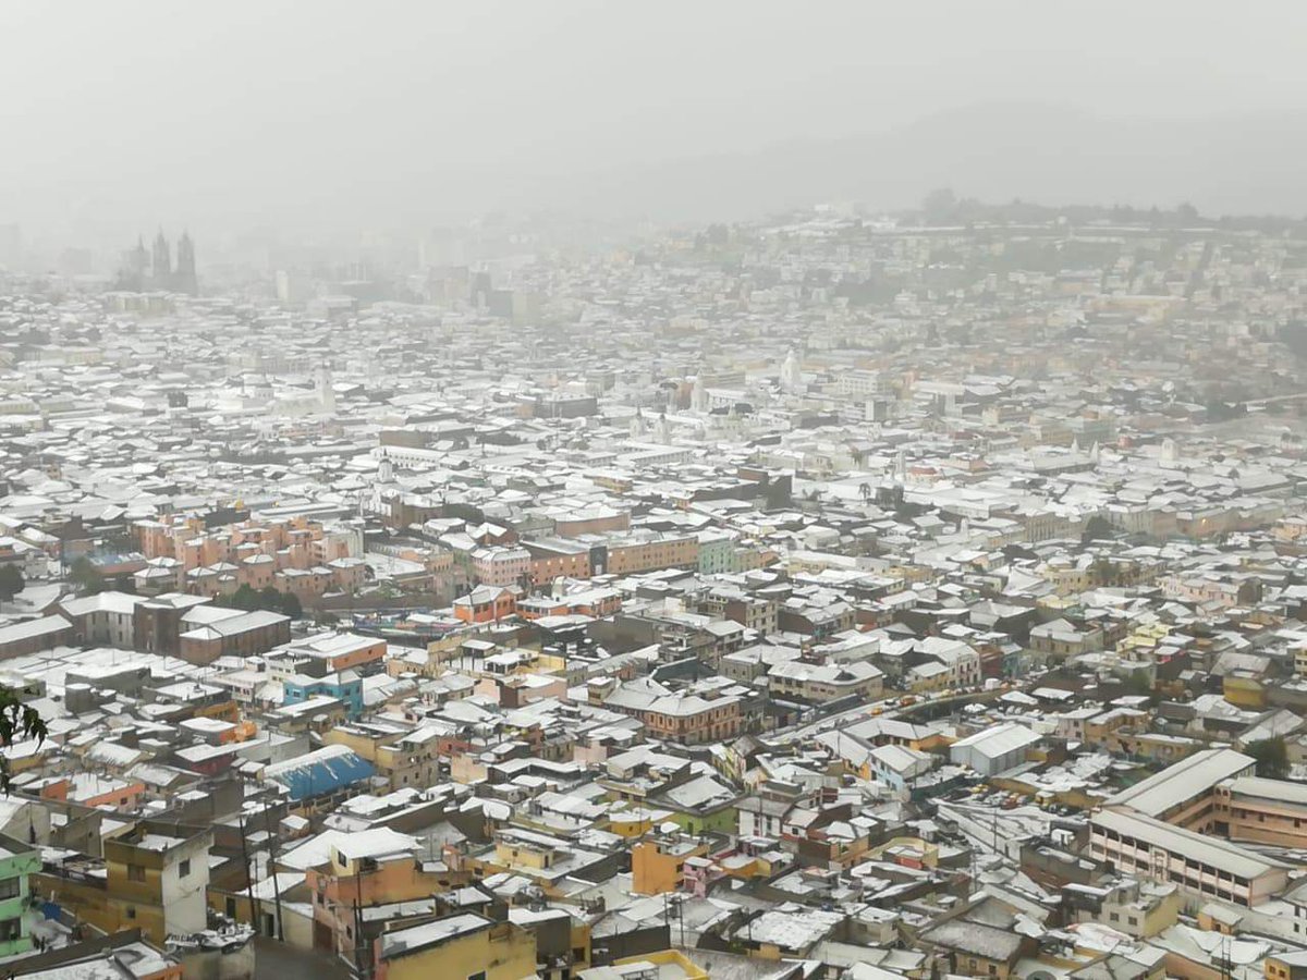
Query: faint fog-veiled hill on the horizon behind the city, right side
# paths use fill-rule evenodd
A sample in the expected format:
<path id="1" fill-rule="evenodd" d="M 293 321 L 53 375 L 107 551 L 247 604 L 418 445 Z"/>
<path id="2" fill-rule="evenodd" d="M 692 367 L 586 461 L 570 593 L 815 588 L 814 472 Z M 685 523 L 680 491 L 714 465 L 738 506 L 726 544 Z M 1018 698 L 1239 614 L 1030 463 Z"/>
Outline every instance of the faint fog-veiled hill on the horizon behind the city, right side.
<path id="1" fill-rule="evenodd" d="M 674 159 L 538 189 L 565 210 L 670 221 L 745 218 L 833 200 L 906 208 L 937 187 L 989 201 L 1189 201 L 1210 216 L 1302 217 L 1304 159 L 1307 110 L 1108 119 L 1046 105 L 979 105 L 874 136 Z"/>

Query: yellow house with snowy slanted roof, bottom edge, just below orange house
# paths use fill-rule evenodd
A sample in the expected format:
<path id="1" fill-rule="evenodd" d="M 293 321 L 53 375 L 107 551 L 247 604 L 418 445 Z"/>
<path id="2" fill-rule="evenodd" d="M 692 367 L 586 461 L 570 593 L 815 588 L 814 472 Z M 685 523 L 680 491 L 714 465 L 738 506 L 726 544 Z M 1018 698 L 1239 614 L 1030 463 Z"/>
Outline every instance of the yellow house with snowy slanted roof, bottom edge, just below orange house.
<path id="1" fill-rule="evenodd" d="M 374 975 L 376 980 L 521 980 L 536 975 L 536 937 L 473 912 L 399 925 L 378 937 Z"/>

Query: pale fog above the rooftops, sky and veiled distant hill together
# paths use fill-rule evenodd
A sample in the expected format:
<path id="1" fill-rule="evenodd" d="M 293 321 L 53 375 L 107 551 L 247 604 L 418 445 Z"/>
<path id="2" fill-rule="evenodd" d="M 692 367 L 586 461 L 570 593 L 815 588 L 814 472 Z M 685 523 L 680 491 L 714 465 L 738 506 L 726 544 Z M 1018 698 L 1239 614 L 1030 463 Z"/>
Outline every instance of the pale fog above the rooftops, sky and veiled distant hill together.
<path id="1" fill-rule="evenodd" d="M 1300 214 L 1304 35 L 1293 0 L 14 3 L 0 212 L 353 231 L 953 186 Z"/>

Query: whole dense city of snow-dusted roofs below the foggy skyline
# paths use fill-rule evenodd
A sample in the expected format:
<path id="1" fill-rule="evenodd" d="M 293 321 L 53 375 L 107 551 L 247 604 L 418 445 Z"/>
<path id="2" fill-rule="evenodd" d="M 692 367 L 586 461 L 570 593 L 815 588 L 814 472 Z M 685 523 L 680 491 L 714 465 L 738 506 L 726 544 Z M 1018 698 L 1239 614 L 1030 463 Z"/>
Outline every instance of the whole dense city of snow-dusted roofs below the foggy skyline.
<path id="1" fill-rule="evenodd" d="M 1307 976 L 1307 229 L 574 231 L 0 273 L 9 975 Z"/>

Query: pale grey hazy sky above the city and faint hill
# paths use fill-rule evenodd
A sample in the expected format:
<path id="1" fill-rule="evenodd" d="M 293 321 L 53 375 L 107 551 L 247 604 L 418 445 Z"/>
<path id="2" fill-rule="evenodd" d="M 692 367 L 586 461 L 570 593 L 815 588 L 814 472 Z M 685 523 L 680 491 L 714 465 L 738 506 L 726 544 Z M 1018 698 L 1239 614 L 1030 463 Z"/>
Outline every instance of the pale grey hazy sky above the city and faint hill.
<path id="1" fill-rule="evenodd" d="M 1302 0 L 0 0 L 0 223 L 391 225 L 989 101 L 1297 110 L 1304 37 Z"/>

